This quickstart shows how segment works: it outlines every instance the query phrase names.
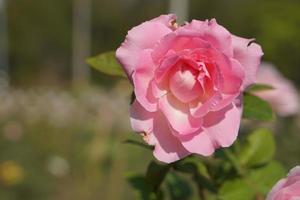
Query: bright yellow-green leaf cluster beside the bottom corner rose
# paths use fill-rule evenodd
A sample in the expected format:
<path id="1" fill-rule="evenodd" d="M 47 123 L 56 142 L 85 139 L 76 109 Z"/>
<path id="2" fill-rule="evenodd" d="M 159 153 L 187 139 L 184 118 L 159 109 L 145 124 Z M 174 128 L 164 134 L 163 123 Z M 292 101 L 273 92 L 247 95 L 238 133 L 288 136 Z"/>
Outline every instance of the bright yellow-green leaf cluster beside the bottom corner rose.
<path id="1" fill-rule="evenodd" d="M 219 190 L 219 198 L 222 200 L 263 199 L 285 174 L 283 167 L 272 160 L 274 153 L 275 141 L 272 132 L 259 129 L 251 133 L 240 152 L 228 156 L 230 159 L 232 157 L 237 159 L 238 162 L 233 163 L 233 167 L 239 165 L 238 168 L 245 173 L 225 180 Z"/>

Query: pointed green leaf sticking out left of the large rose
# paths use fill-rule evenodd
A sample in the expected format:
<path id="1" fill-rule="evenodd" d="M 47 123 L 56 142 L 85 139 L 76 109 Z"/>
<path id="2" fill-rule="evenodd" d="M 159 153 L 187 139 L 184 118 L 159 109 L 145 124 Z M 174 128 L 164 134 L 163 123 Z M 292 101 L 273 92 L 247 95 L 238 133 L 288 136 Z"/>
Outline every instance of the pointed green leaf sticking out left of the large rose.
<path id="1" fill-rule="evenodd" d="M 94 69 L 111 76 L 127 77 L 115 57 L 115 52 L 105 52 L 87 59 L 87 63 Z"/>

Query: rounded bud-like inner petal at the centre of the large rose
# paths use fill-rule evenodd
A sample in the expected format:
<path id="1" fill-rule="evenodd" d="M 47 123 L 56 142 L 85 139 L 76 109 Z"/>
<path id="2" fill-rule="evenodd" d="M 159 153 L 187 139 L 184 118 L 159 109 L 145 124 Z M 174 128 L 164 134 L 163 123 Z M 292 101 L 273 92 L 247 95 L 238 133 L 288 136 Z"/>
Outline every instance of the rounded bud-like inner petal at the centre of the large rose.
<path id="1" fill-rule="evenodd" d="M 171 73 L 169 85 L 173 95 L 181 102 L 187 103 L 203 95 L 203 89 L 197 80 L 199 70 L 187 63 L 179 63 Z"/>

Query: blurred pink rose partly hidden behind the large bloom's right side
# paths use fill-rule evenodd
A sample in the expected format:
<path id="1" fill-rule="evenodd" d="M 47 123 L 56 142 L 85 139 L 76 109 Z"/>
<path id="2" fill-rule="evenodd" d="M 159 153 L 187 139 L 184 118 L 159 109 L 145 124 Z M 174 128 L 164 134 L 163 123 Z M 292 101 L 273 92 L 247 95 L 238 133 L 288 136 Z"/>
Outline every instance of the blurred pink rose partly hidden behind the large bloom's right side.
<path id="1" fill-rule="evenodd" d="M 256 91 L 254 94 L 268 101 L 280 116 L 289 116 L 299 112 L 299 97 L 293 83 L 284 78 L 276 68 L 263 63 L 257 74 L 257 83 L 274 87 L 272 90 Z"/>

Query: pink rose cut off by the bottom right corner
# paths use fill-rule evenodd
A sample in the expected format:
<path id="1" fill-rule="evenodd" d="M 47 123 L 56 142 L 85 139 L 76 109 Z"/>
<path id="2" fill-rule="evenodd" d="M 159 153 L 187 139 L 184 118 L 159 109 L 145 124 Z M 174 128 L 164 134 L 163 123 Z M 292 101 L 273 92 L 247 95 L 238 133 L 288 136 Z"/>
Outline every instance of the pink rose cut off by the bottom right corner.
<path id="1" fill-rule="evenodd" d="M 300 166 L 293 168 L 287 178 L 281 179 L 268 194 L 267 200 L 300 199 Z"/>

